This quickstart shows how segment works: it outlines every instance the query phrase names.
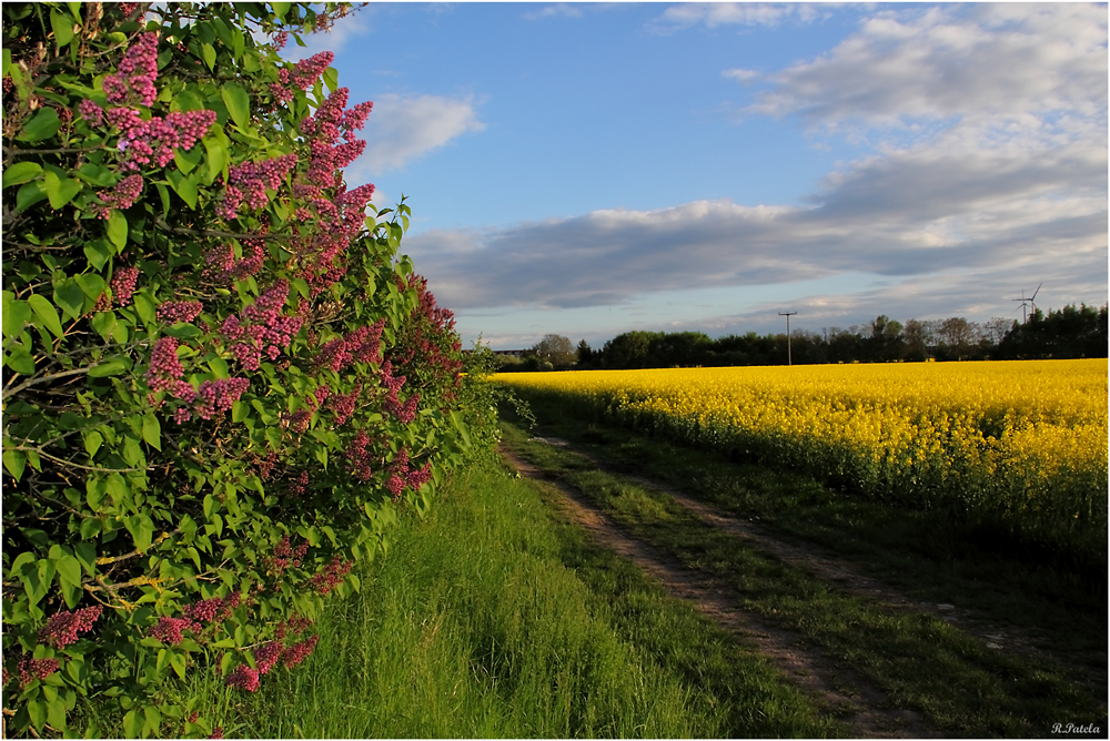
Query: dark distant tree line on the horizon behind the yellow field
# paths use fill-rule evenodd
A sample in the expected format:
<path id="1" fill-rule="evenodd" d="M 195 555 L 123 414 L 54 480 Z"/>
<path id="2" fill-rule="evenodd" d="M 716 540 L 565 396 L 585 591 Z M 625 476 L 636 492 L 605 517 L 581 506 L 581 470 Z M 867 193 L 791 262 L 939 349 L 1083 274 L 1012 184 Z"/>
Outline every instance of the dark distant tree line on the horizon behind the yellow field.
<path id="1" fill-rule="evenodd" d="M 1017 361 L 1107 357 L 1107 306 L 1080 304 L 1033 311 L 1023 322 L 995 317 L 909 319 L 880 315 L 848 328 L 799 329 L 759 335 L 702 332 L 643 332 L 617 335 L 598 349 L 583 339 L 575 347 L 548 334 L 519 355 L 501 357 L 502 370 L 669 368 L 692 366 L 815 365 L 926 361 Z"/>

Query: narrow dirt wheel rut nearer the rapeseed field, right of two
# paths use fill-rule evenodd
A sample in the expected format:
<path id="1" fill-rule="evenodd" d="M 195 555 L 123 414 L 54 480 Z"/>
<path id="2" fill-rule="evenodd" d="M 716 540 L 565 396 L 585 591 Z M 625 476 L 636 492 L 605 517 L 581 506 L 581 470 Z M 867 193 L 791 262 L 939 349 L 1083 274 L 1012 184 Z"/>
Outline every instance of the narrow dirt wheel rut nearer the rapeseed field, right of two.
<path id="1" fill-rule="evenodd" d="M 803 568 L 838 589 L 858 597 L 870 598 L 892 607 L 932 615 L 965 633 L 975 636 L 995 650 L 1019 653 L 1048 664 L 1066 668 L 1073 681 L 1087 688 L 1088 693 L 1103 711 L 1107 707 L 1107 671 L 1094 672 L 1079 657 L 1061 654 L 1038 647 L 1043 642 L 1015 626 L 1000 626 L 978 615 L 976 611 L 956 605 L 927 602 L 909 597 L 904 591 L 879 579 L 860 573 L 852 565 L 846 564 L 835 554 L 814 544 L 787 542 L 773 534 L 769 528 L 757 522 L 737 519 L 719 509 L 699 501 L 674 487 L 656 480 L 629 474 L 626 468 L 602 460 L 573 446 L 569 441 L 555 437 L 535 437 L 535 440 L 572 450 L 593 464 L 598 470 L 616 474 L 628 481 L 649 490 L 667 495 L 678 505 L 698 517 L 703 522 L 723 532 L 744 539 L 760 551 L 779 560 Z"/>

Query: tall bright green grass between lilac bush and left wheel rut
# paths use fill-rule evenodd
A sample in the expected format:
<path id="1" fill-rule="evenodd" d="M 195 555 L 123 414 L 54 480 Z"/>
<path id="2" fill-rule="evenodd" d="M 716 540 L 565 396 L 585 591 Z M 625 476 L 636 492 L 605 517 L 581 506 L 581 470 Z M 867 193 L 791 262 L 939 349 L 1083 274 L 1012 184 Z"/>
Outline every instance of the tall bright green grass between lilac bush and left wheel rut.
<path id="1" fill-rule="evenodd" d="M 551 497 L 500 466 L 460 476 L 317 622 L 303 664 L 254 694 L 202 672 L 183 692 L 228 737 L 844 734 L 750 647 L 591 547 Z"/>

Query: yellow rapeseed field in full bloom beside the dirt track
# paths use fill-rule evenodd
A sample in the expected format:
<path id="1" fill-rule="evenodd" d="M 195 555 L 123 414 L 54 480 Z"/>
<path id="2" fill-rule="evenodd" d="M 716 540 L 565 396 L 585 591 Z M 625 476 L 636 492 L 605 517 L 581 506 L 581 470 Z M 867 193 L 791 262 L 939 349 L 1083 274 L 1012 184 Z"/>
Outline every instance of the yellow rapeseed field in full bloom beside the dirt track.
<path id="1" fill-rule="evenodd" d="M 1106 550 L 1107 361 L 500 374 L 525 397 Z M 1068 542 L 1070 545 L 1068 545 Z"/>

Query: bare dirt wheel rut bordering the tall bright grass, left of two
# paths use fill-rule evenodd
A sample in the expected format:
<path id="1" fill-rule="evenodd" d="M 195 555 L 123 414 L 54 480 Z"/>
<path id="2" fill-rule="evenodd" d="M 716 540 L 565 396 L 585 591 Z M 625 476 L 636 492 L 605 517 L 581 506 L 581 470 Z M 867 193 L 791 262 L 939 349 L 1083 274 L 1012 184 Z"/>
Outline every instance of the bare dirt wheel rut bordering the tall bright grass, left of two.
<path id="1" fill-rule="evenodd" d="M 501 453 L 522 476 L 543 480 L 557 489 L 566 514 L 586 530 L 595 544 L 630 560 L 672 595 L 689 601 L 725 630 L 754 643 L 797 687 L 844 721 L 849 737 L 942 737 L 920 713 L 895 708 L 887 696 L 818 649 L 806 646 L 797 633 L 768 625 L 740 609 L 739 596 L 728 585 L 689 569 L 638 540 L 574 487 L 549 477 L 509 450 L 502 448 Z"/>

